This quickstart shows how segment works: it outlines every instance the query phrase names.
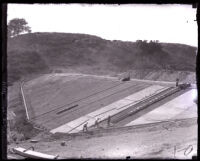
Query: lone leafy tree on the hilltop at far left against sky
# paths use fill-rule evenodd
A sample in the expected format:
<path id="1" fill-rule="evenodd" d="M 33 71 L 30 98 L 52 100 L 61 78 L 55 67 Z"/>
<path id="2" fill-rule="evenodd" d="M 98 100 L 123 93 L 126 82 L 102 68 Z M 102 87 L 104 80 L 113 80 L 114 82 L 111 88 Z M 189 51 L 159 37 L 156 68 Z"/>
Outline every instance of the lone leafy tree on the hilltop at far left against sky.
<path id="1" fill-rule="evenodd" d="M 7 26 L 8 37 L 14 37 L 20 33 L 30 33 L 31 28 L 28 26 L 28 23 L 23 18 L 14 18 L 9 21 Z"/>

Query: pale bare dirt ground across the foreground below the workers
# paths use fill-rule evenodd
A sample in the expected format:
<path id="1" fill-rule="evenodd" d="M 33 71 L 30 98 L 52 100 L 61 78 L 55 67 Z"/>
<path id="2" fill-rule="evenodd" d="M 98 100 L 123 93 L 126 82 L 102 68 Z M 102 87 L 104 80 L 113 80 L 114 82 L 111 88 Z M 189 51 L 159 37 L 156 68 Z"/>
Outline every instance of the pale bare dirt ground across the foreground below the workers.
<path id="1" fill-rule="evenodd" d="M 197 154 L 197 119 L 157 123 L 152 126 L 134 126 L 108 132 L 80 134 L 74 137 L 57 135 L 18 144 L 36 151 L 59 155 L 60 158 L 191 158 Z M 61 146 L 65 141 L 66 145 Z M 10 145 L 9 147 L 15 147 Z"/>

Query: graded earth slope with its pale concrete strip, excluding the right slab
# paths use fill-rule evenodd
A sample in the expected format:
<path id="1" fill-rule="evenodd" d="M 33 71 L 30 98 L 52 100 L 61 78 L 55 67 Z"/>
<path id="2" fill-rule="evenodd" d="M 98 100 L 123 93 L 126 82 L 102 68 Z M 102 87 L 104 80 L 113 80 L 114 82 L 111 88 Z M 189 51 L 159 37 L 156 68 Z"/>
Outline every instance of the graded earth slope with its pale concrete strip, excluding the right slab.
<path id="1" fill-rule="evenodd" d="M 97 119 L 101 126 L 108 118 L 115 126 L 124 126 L 142 116 L 140 113 L 144 115 L 153 110 L 156 104 L 161 106 L 185 92 L 179 92 L 181 88 L 171 85 L 133 80 L 121 82 L 91 76 L 51 79 L 48 77 L 42 84 L 28 82 L 24 92 L 30 120 L 52 133 L 76 133 L 85 123 L 94 128 Z"/>

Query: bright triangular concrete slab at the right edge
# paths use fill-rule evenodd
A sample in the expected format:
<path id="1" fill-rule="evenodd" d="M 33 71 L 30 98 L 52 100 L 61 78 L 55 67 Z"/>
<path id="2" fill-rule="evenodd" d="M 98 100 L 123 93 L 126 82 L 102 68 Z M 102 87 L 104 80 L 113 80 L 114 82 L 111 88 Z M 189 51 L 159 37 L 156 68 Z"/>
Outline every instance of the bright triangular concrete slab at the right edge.
<path id="1" fill-rule="evenodd" d="M 133 120 L 125 126 L 148 124 L 163 120 L 197 117 L 197 104 L 194 102 L 197 90 L 191 89 L 188 92 L 163 104 L 159 108 Z"/>

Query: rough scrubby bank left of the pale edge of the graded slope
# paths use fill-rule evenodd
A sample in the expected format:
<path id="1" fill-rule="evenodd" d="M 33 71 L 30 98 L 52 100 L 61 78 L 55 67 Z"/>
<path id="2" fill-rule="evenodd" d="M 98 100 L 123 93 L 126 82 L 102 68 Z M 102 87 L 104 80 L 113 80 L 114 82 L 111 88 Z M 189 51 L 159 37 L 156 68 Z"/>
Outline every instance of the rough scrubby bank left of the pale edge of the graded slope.
<path id="1" fill-rule="evenodd" d="M 30 139 L 39 132 L 33 128 L 31 123 L 27 121 L 22 95 L 20 92 L 19 82 L 16 82 L 13 86 L 8 87 L 7 113 L 12 111 L 15 114 L 12 120 L 9 121 L 10 128 L 7 131 L 8 144 L 13 142 L 18 143 L 22 140 Z"/>

